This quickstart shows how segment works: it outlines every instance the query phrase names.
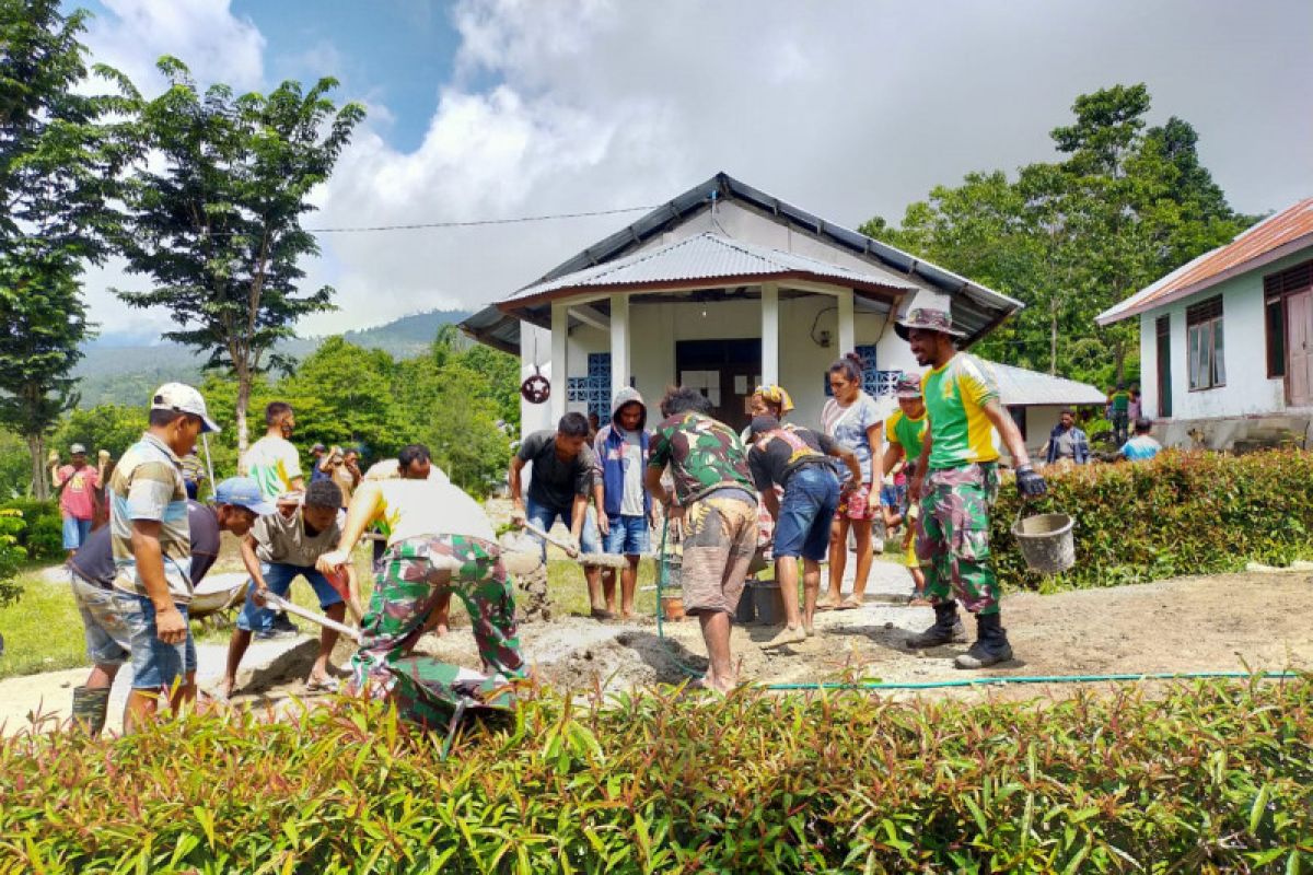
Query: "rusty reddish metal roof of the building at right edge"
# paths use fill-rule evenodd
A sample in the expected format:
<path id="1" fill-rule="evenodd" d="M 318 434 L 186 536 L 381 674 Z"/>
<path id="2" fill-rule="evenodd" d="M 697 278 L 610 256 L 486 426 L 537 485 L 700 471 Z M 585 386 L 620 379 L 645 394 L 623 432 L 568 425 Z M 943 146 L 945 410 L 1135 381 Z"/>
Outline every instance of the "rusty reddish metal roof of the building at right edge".
<path id="1" fill-rule="evenodd" d="M 1203 291 L 1224 279 L 1313 245 L 1313 198 L 1263 219 L 1194 261 L 1176 268 L 1162 279 L 1127 298 L 1095 317 L 1100 325 L 1129 319 L 1146 310 Z"/>

